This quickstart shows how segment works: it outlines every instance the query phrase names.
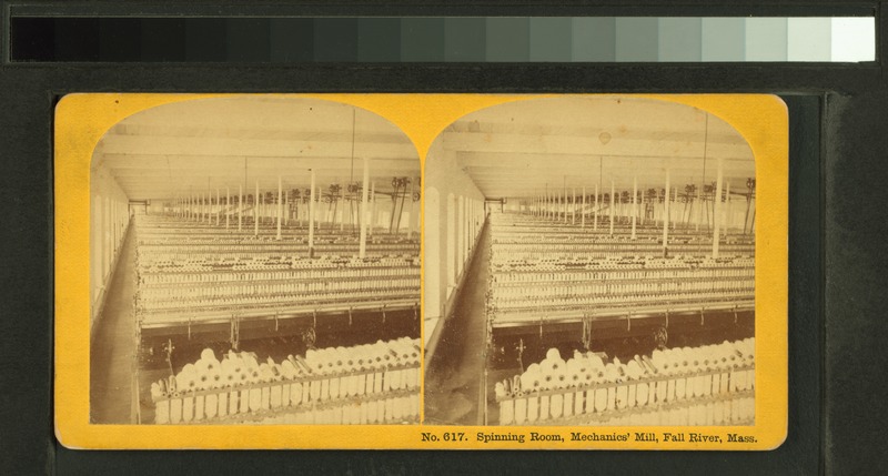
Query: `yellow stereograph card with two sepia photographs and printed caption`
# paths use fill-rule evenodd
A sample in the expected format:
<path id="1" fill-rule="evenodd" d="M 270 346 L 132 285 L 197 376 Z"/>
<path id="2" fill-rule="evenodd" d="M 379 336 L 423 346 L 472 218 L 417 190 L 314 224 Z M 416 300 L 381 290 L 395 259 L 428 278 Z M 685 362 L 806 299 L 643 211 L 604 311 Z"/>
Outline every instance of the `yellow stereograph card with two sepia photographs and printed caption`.
<path id="1" fill-rule="evenodd" d="M 765 450 L 788 115 L 759 94 L 69 94 L 72 448 Z"/>

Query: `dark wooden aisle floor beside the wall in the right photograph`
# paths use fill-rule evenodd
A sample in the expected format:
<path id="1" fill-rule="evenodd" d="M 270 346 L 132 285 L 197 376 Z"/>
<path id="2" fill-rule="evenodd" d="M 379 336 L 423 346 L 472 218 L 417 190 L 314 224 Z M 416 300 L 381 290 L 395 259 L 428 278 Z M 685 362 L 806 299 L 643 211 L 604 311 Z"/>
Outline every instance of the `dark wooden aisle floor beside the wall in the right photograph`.
<path id="1" fill-rule="evenodd" d="M 444 320 L 437 350 L 425 372 L 425 423 L 483 425 L 486 368 L 485 302 L 490 277 L 490 236 L 482 231 L 474 257 L 465 270 L 463 290 L 453 314 Z"/>

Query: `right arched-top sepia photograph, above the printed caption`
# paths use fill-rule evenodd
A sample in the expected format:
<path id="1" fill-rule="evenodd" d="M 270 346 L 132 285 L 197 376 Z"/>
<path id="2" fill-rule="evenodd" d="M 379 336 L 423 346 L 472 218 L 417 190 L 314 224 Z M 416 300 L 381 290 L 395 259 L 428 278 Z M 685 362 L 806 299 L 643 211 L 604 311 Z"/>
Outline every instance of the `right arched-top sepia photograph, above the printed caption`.
<path id="1" fill-rule="evenodd" d="M 755 424 L 756 163 L 730 124 L 519 100 L 450 124 L 423 185 L 425 424 Z"/>

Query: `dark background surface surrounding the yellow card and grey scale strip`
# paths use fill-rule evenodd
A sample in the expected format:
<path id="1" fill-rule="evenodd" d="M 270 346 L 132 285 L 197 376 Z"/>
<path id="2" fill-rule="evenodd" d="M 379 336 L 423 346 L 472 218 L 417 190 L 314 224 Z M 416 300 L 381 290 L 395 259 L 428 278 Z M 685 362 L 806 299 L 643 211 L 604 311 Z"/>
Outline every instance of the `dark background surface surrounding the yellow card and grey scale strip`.
<path id="1" fill-rule="evenodd" d="M 32 2 L 17 12 L 727 16 L 877 12 L 864 64 L 0 63 L 0 472 L 3 474 L 886 474 L 882 255 L 888 184 L 888 2 L 787 0 L 377 2 L 245 8 L 192 1 Z M 377 8 L 374 10 L 374 3 Z M 9 2 L 3 2 L 9 7 Z M 78 10 L 79 9 L 79 10 Z M 43 41 L 38 38 L 34 41 Z M 344 39 L 351 41 L 349 39 Z M 171 44 L 174 41 L 170 42 Z M 54 43 L 53 43 L 54 44 Z M 89 45 L 89 42 L 84 41 Z M 38 48 L 36 47 L 36 48 Z M 71 48 L 79 48 L 69 44 Z M 212 48 L 212 44 L 205 48 Z M 123 50 L 125 52 L 125 50 Z M 163 55 L 164 50 L 151 54 Z M 196 54 L 196 53 L 195 53 Z M 299 54 L 294 52 L 293 54 Z M 52 113 L 70 92 L 767 92 L 790 111 L 789 428 L 773 452 L 87 452 L 52 429 Z M 763 415 L 761 417 L 767 417 Z M 381 435 L 384 437 L 384 435 Z M 244 442 L 249 445 L 249 442 Z"/>

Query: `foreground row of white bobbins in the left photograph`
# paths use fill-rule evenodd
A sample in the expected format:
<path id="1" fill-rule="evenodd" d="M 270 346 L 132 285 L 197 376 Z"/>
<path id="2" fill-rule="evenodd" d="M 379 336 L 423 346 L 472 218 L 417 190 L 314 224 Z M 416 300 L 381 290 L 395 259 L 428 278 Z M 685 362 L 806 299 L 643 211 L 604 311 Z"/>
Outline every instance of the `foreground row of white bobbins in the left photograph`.
<path id="1" fill-rule="evenodd" d="M 339 418 L 350 423 L 414 417 L 418 415 L 420 355 L 417 340 L 407 337 L 310 350 L 305 357 L 289 355 L 280 363 L 271 357 L 259 363 L 253 353 L 233 351 L 219 361 L 212 350 L 204 350 L 200 359 L 151 385 L 154 422 L 212 423 L 281 412 L 329 415 L 331 411 L 334 415 L 344 412 Z"/>

